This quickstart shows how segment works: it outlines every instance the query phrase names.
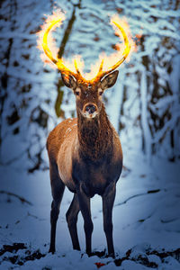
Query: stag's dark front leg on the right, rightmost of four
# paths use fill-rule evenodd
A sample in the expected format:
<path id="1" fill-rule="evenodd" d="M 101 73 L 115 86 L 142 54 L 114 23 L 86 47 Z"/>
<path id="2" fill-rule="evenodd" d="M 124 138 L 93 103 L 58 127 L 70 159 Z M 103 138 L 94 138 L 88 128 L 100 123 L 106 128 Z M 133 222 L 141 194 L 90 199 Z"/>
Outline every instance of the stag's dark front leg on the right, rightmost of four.
<path id="1" fill-rule="evenodd" d="M 109 256 L 114 257 L 113 239 L 112 239 L 112 207 L 115 199 L 115 183 L 109 184 L 103 193 L 103 230 L 107 239 Z"/>

